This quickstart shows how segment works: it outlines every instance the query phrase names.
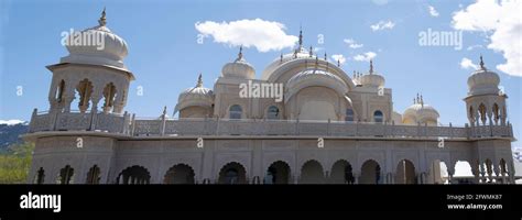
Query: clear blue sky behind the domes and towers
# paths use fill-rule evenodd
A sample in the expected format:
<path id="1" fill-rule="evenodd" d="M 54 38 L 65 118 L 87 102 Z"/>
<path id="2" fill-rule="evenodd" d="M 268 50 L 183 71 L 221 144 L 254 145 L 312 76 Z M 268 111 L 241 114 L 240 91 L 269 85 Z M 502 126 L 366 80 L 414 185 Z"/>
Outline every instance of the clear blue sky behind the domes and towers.
<path id="1" fill-rule="evenodd" d="M 477 65 L 479 55 L 486 66 L 497 72 L 501 86 L 509 96 L 509 121 L 520 138 L 521 73 L 519 68 L 497 68 L 511 59 L 509 48 L 491 38 L 502 34 L 504 24 L 466 26 L 466 19 L 456 28 L 452 21 L 458 11 L 468 10 L 475 1 L 10 1 L 0 3 L 0 120 L 29 120 L 33 108 L 46 110 L 52 74 L 46 65 L 56 64 L 67 55 L 61 45 L 61 33 L 69 29 L 84 30 L 97 25 L 107 7 L 108 28 L 129 45 L 126 64 L 137 77 L 131 84 L 129 112 L 142 117 L 161 114 L 163 106 L 172 113 L 178 94 L 196 84 L 203 73 L 204 84 L 211 87 L 221 67 L 236 58 L 238 47 L 216 43 L 213 35 L 198 44 L 196 23 L 254 20 L 279 22 L 284 34 L 298 35 L 300 25 L 306 47 L 322 48 L 318 53 L 346 57 L 342 68 L 351 77 L 352 70 L 367 72 L 367 61 L 357 55 L 374 54 L 374 68 L 385 77 L 385 86 L 393 89 L 393 105 L 404 111 L 416 92 L 441 113 L 441 122 L 463 125 L 467 122 L 463 98 L 467 92 L 467 77 L 472 68 L 461 66 L 463 58 Z M 500 4 L 499 4 L 500 6 Z M 432 9 L 432 13 L 431 13 Z M 480 11 L 469 13 L 480 14 Z M 482 14 L 486 15 L 486 14 Z M 490 15 L 492 16 L 492 15 Z M 521 21 L 520 15 L 515 20 Z M 502 18 L 504 19 L 504 18 Z M 372 30 L 371 25 L 391 23 L 392 28 Z M 502 22 L 502 21 L 501 21 Z M 488 22 L 482 22 L 488 23 Z M 471 24 L 470 24 L 471 25 Z M 497 26 L 496 26 L 497 25 Z M 454 46 L 420 46 L 418 34 L 433 31 L 464 30 L 463 48 Z M 477 31 L 477 29 L 483 29 Z M 500 30 L 500 31 L 499 31 Z M 324 44 L 318 43 L 318 35 Z M 519 38 L 520 31 L 515 32 Z M 362 46 L 352 48 L 345 40 Z M 497 41 L 497 42 L 496 42 Z M 488 48 L 496 43 L 497 47 Z M 472 47 L 468 50 L 468 47 Z M 502 51 L 504 50 L 504 51 Z M 259 52 L 255 46 L 243 54 L 252 64 L 257 77 L 282 51 Z M 519 50 L 520 52 L 520 50 Z M 520 63 L 520 57 L 515 63 Z M 516 65 L 515 65 L 516 66 Z M 17 95 L 22 86 L 23 95 Z M 137 87 L 143 87 L 143 96 Z M 519 143 L 514 143 L 519 145 Z"/>

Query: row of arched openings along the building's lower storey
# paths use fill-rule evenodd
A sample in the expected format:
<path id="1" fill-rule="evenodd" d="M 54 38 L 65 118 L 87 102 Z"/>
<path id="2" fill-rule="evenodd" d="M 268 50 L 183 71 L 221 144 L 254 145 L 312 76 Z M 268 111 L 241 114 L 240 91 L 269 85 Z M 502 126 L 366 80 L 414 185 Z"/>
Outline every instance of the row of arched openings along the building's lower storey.
<path id="1" fill-rule="evenodd" d="M 410 160 L 401 160 L 394 173 L 384 173 L 374 160 L 367 160 L 360 168 L 352 166 L 347 160 L 336 161 L 329 170 L 316 160 L 306 161 L 298 173 L 292 170 L 284 161 L 271 163 L 264 176 L 250 177 L 246 167 L 238 162 L 225 164 L 216 179 L 200 179 L 191 165 L 175 164 L 170 167 L 161 183 L 163 184 L 509 184 L 510 170 L 505 160 L 500 160 L 496 166 L 487 158 L 482 163 L 458 161 L 455 166 L 464 167 L 465 173 L 456 174 L 455 167 L 448 167 L 443 161 L 431 163 L 429 170 L 420 173 Z M 297 173 L 297 174 L 296 174 Z M 93 165 L 87 174 L 85 184 L 101 184 L 101 169 Z M 57 184 L 73 184 L 75 169 L 66 165 L 59 169 Z M 44 184 L 45 169 L 40 167 L 34 176 L 34 184 Z M 146 167 L 133 165 L 119 173 L 113 184 L 151 184 L 151 174 Z"/>

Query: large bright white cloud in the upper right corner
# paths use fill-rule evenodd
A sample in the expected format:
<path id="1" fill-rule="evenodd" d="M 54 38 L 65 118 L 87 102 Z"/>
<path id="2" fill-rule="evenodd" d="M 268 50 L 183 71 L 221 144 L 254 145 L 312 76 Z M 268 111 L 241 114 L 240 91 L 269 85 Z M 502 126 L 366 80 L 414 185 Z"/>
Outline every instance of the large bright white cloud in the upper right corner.
<path id="1" fill-rule="evenodd" d="M 490 50 L 502 53 L 504 64 L 497 68 L 512 76 L 522 76 L 522 11 L 521 1 L 478 0 L 454 13 L 456 30 L 485 32 Z"/>

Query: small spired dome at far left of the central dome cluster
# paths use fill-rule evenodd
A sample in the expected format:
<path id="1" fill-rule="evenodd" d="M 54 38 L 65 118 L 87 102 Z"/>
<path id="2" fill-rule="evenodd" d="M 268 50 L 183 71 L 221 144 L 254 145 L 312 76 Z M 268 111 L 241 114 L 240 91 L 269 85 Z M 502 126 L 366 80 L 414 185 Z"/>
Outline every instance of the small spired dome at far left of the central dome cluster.
<path id="1" fill-rule="evenodd" d="M 214 103 L 213 90 L 203 87 L 202 75 L 199 75 L 198 82 L 195 87 L 188 88 L 177 98 L 175 111 L 180 111 L 187 107 L 211 107 Z"/>

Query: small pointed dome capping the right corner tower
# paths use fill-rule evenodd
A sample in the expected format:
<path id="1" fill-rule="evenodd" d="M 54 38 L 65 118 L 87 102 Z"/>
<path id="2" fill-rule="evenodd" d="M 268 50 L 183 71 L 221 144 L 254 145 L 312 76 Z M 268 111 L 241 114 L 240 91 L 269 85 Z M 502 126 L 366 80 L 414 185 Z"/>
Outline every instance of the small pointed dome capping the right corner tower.
<path id="1" fill-rule="evenodd" d="M 480 68 L 468 77 L 468 95 L 499 94 L 499 75 L 487 69 L 480 56 Z"/>

